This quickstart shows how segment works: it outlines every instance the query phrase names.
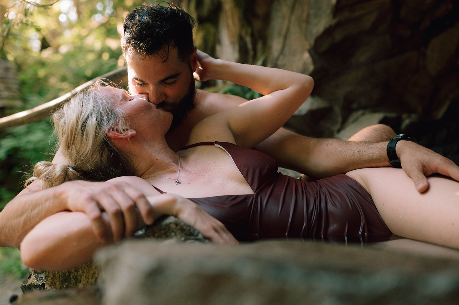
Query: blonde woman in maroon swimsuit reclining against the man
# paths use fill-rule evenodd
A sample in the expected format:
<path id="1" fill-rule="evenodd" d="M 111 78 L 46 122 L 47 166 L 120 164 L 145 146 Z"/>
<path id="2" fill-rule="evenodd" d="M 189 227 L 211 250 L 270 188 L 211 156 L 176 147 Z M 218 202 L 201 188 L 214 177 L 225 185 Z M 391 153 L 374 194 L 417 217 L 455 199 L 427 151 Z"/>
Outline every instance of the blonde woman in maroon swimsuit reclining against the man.
<path id="1" fill-rule="evenodd" d="M 223 222 L 240 240 L 372 241 L 394 233 L 459 248 L 459 183 L 429 177 L 431 189 L 419 194 L 394 168 L 360 169 L 314 183 L 280 175 L 272 158 L 247 148 L 287 121 L 311 93 L 312 78 L 198 54 L 200 63 L 213 61 L 213 69 L 205 75 L 198 69 L 197 79 L 239 83 L 263 96 L 199 122 L 188 145 L 175 153 L 164 139 L 170 113 L 146 95 L 96 86 L 55 114 L 66 162 L 35 166 L 43 187 L 78 178 L 124 181 L 147 196 L 155 217 L 178 216 L 220 243 L 235 243 Z M 28 233 L 21 255 L 35 269 L 67 269 L 89 261 L 102 245 L 89 216 L 61 212 Z"/>

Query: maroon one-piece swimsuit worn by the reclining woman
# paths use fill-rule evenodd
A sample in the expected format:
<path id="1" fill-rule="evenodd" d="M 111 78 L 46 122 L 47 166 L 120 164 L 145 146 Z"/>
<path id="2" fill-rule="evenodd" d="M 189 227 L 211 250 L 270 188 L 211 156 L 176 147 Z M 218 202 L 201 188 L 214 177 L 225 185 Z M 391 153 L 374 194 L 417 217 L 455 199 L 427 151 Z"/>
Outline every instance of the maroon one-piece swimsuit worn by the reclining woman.
<path id="1" fill-rule="evenodd" d="M 224 149 L 255 193 L 189 198 L 221 221 L 238 240 L 375 242 L 392 235 L 370 194 L 346 175 L 307 183 L 277 172 L 276 161 L 257 150 L 217 141 L 183 149 L 200 145 Z"/>

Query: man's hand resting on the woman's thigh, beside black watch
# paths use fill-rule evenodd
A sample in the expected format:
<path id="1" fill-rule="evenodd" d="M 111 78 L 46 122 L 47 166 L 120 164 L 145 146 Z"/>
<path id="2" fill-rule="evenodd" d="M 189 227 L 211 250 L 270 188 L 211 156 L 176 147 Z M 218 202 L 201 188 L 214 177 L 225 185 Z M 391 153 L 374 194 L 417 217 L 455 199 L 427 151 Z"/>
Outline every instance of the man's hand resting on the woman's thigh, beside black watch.
<path id="1" fill-rule="evenodd" d="M 439 173 L 459 181 L 459 167 L 453 161 L 428 148 L 410 141 L 399 141 L 396 152 L 403 171 L 413 179 L 420 193 L 424 193 L 429 188 L 426 176 L 431 174 Z"/>

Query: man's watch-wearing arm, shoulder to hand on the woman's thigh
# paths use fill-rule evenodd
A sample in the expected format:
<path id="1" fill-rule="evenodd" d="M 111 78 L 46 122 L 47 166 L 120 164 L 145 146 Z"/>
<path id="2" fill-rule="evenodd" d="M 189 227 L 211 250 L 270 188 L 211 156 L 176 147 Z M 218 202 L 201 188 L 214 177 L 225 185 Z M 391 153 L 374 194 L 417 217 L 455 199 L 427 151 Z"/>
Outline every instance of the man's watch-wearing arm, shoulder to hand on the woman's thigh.
<path id="1" fill-rule="evenodd" d="M 205 93 L 201 102 L 202 117 L 210 116 L 246 100 L 228 94 Z M 390 166 L 387 158 L 387 141 L 359 142 L 340 139 L 314 139 L 280 128 L 254 149 L 272 156 L 279 166 L 323 178 L 346 173 L 358 168 Z M 433 173 L 459 181 L 459 167 L 452 161 L 418 144 L 400 141 L 397 155 L 403 170 L 413 179 L 419 192 L 429 184 L 426 176 Z"/>

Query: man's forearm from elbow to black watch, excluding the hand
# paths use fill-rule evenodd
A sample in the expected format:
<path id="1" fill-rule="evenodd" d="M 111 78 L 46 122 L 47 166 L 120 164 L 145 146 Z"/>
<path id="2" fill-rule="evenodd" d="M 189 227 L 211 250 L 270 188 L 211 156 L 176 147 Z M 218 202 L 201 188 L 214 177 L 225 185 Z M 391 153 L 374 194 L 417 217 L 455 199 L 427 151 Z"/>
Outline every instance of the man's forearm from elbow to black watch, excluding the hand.
<path id="1" fill-rule="evenodd" d="M 255 149 L 274 157 L 279 166 L 322 178 L 357 168 L 389 166 L 387 142 L 314 139 L 280 129 Z"/>

